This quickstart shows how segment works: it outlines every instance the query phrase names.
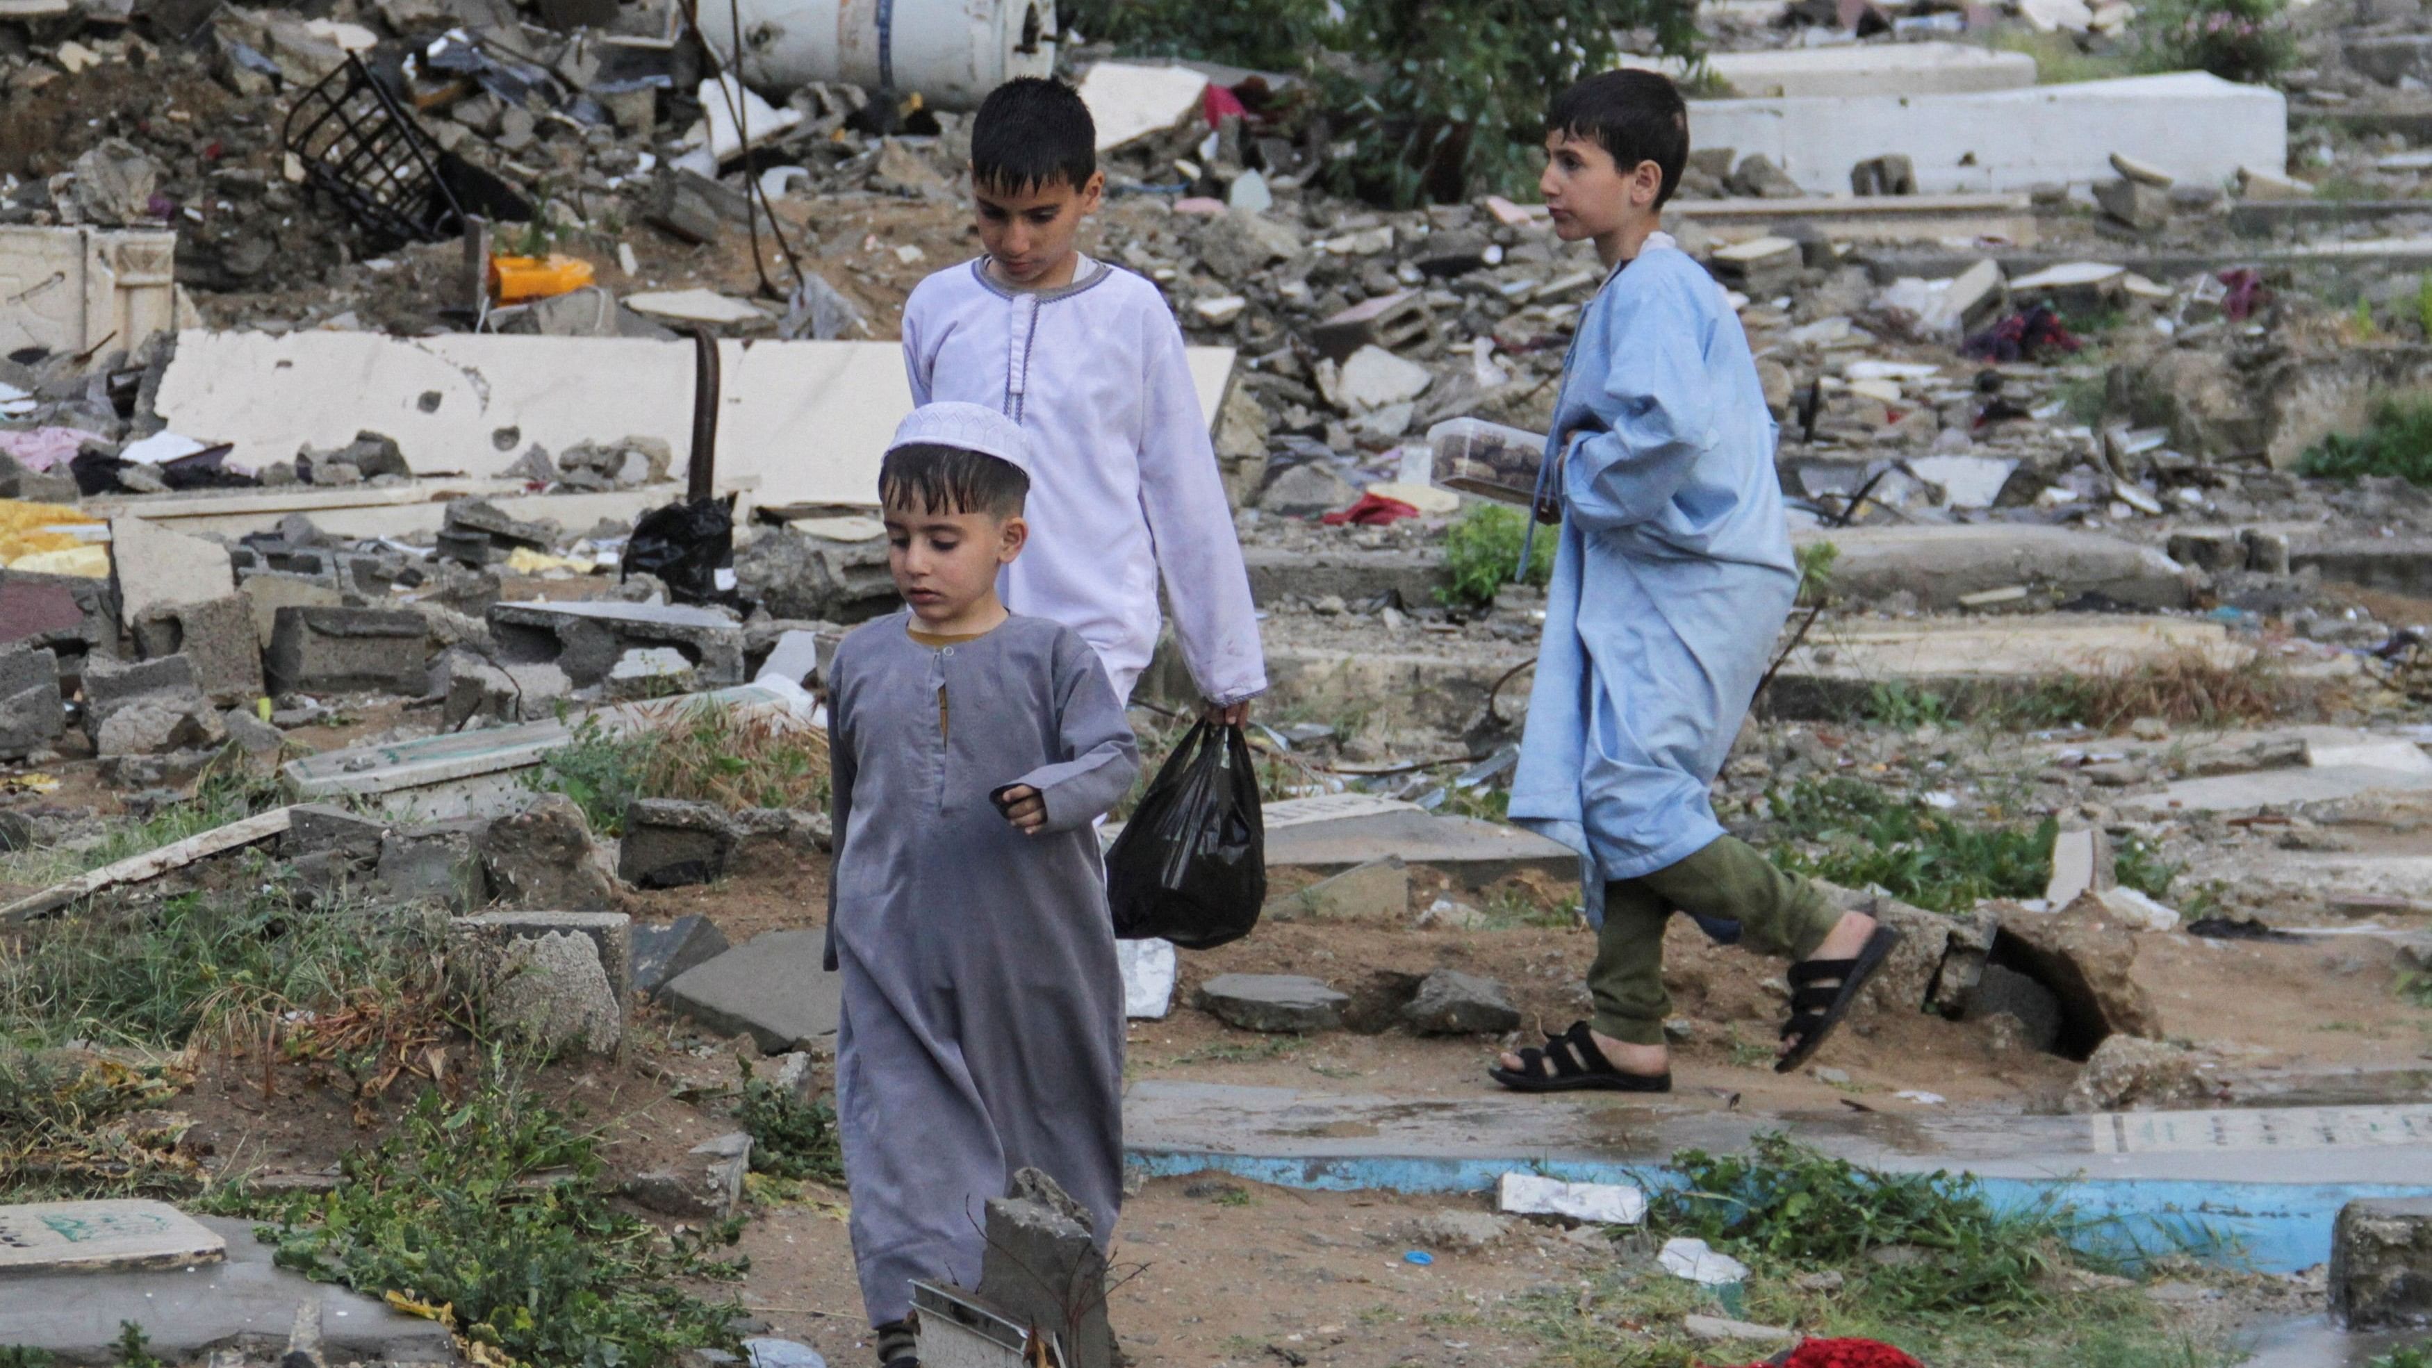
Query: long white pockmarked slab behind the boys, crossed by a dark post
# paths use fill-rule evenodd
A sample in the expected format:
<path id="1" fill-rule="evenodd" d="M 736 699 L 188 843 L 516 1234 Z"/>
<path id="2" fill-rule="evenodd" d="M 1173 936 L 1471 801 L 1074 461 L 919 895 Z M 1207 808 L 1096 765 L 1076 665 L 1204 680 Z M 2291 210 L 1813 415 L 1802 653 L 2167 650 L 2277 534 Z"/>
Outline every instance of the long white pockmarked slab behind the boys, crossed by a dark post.
<path id="1" fill-rule="evenodd" d="M 5 233 L 7 228 L 0 228 Z M 32 282 L 29 282 L 32 284 Z M 720 491 L 754 488 L 761 503 L 846 503 L 878 498 L 878 459 L 912 391 L 895 343 L 717 345 L 725 403 L 717 416 Z M 1189 347 L 1199 411 L 1214 420 L 1233 369 L 1231 347 Z M 426 406 L 426 396 L 438 394 Z M 443 333 L 294 330 L 178 335 L 161 379 L 161 418 L 180 433 L 233 442 L 229 459 L 263 467 L 299 447 L 343 447 L 365 413 L 382 413 L 413 469 L 499 479 L 533 445 L 564 452 L 601 433 L 657 437 L 686 450 L 693 430 L 693 345 L 647 338 L 516 338 Z M 822 454 L 803 457 L 803 433 L 822 433 Z M 413 486 L 367 491 L 428 518 Z M 576 496 L 542 496 L 542 503 Z M 664 496 L 579 496 L 584 508 L 635 508 Z M 501 505 L 508 501 L 501 501 Z M 530 503 L 530 501 L 516 501 Z M 564 515 L 586 527 L 601 513 Z M 365 518 L 323 520 L 345 535 L 394 535 Z"/>

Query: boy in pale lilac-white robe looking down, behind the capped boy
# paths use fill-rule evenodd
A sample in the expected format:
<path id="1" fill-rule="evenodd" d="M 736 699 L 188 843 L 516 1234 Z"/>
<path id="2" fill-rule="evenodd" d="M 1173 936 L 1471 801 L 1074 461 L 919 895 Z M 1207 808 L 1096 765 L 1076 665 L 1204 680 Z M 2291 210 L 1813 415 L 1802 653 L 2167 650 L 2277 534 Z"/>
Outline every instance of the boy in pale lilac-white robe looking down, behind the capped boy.
<path id="1" fill-rule="evenodd" d="M 987 255 L 905 304 L 912 403 L 985 403 L 1031 437 L 1031 547 L 1004 571 L 1007 607 L 1080 632 L 1128 700 L 1158 646 L 1162 571 L 1192 680 L 1240 722 L 1267 668 L 1182 330 L 1155 284 L 1073 245 L 1107 185 L 1094 146 L 1063 83 L 1012 80 L 980 104 Z"/>

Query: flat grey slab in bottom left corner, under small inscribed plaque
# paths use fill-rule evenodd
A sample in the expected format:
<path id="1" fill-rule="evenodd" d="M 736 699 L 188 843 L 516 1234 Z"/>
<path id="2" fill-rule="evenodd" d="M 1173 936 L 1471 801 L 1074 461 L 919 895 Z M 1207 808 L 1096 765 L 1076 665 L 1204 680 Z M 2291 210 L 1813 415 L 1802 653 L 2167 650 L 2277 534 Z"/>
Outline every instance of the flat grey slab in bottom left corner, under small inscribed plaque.
<path id="1" fill-rule="evenodd" d="M 447 1327 L 275 1266 L 277 1249 L 253 1237 L 250 1220 L 195 1220 L 224 1242 L 224 1264 L 10 1276 L 0 1298 L 0 1344 L 63 1363 L 119 1363 L 119 1327 L 134 1322 L 151 1353 L 187 1363 L 238 1339 L 287 1344 L 297 1307 L 316 1307 L 331 1361 L 455 1363 Z"/>

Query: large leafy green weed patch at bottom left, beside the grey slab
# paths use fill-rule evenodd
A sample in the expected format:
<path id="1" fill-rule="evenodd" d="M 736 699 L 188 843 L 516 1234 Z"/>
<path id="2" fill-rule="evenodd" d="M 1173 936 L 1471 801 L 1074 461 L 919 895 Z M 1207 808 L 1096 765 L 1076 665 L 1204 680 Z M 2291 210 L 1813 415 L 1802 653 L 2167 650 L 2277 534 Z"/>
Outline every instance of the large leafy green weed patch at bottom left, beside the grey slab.
<path id="1" fill-rule="evenodd" d="M 654 1368 L 742 1349 L 742 1307 L 686 1290 L 744 1271 L 708 1256 L 734 1225 L 669 1239 L 613 1205 L 593 1140 L 496 1059 L 460 1103 L 426 1091 L 389 1140 L 343 1159 L 333 1191 L 219 1205 L 268 1220 L 258 1237 L 280 1266 L 445 1307 L 460 1336 L 520 1363 Z"/>

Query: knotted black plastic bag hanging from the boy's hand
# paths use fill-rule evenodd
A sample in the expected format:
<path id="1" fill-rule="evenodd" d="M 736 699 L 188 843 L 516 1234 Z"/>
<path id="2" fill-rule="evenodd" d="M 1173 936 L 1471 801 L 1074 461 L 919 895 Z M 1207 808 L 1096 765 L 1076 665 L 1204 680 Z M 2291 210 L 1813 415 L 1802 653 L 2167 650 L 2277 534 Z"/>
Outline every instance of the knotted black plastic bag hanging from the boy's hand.
<path id="1" fill-rule="evenodd" d="M 1240 940 L 1267 901 L 1267 829 L 1240 727 L 1199 722 L 1107 853 L 1114 935 L 1184 950 Z"/>

